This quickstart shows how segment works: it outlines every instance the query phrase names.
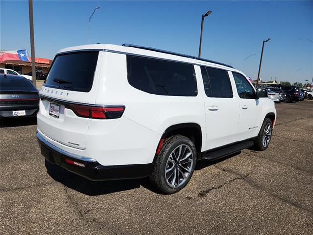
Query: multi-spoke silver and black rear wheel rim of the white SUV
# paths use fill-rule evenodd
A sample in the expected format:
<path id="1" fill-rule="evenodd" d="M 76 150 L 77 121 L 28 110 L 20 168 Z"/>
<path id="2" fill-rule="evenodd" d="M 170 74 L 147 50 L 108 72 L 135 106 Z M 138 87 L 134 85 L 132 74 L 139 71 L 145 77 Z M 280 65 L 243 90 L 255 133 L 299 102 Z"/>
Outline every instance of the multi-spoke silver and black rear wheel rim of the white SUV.
<path id="1" fill-rule="evenodd" d="M 166 183 L 173 188 L 183 185 L 190 177 L 194 155 L 188 145 L 176 147 L 167 159 L 165 166 Z"/>

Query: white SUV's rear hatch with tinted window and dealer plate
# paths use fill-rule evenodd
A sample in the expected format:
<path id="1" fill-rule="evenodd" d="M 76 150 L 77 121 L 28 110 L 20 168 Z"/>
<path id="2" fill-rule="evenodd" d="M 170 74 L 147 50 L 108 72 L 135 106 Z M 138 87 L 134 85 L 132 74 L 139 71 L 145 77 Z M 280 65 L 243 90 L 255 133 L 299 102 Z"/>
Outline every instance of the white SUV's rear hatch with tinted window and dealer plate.
<path id="1" fill-rule="evenodd" d="M 77 111 L 84 112 L 79 107 L 95 103 L 100 63 L 99 51 L 56 55 L 39 92 L 40 132 L 61 144 L 85 149 L 89 118 L 79 117 Z"/>

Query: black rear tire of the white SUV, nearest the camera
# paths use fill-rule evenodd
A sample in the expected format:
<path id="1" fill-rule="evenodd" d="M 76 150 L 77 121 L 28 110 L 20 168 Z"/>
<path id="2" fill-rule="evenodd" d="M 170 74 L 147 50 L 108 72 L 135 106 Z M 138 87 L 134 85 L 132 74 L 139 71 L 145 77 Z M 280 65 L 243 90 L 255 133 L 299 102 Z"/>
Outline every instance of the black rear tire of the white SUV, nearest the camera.
<path id="1" fill-rule="evenodd" d="M 187 168 L 187 170 L 190 170 L 190 172 L 188 173 L 187 171 L 185 171 L 184 175 L 187 174 L 187 177 L 183 177 L 182 175 L 182 171 L 180 167 L 180 162 L 176 161 L 176 159 L 174 160 L 176 163 L 174 163 L 173 160 L 173 156 L 176 156 L 178 154 L 178 152 L 176 152 L 176 155 L 171 155 L 173 153 L 173 151 L 177 151 L 179 150 L 180 146 L 182 146 L 182 148 L 185 148 L 185 151 L 188 151 L 189 153 L 192 153 L 192 164 L 189 166 L 186 165 L 186 163 L 182 163 L 184 164 L 183 166 Z M 189 147 L 189 148 L 188 148 Z M 181 152 L 183 152 L 183 150 L 181 150 Z M 182 158 L 183 159 L 183 154 Z M 187 155 L 186 155 L 187 156 Z M 182 161 L 188 161 L 189 157 L 186 160 L 182 160 Z M 159 191 L 161 191 L 162 193 L 165 194 L 172 194 L 172 193 L 176 193 L 178 191 L 180 191 L 182 188 L 184 188 L 190 178 L 192 177 L 192 174 L 194 172 L 195 166 L 196 166 L 196 161 L 197 161 L 197 152 L 196 152 L 196 148 L 194 143 L 187 137 L 182 136 L 182 135 L 175 135 L 175 136 L 171 136 L 169 138 L 166 138 L 165 141 L 163 142 L 162 148 L 160 153 L 156 156 L 156 161 L 154 164 L 154 168 L 153 168 L 153 172 L 150 175 L 149 179 L 151 184 L 157 188 Z M 165 171 L 166 168 L 169 167 L 171 168 L 170 164 L 172 164 L 172 166 L 174 167 L 174 170 L 169 171 L 168 173 L 171 174 L 171 172 L 173 172 L 172 174 L 175 174 L 175 179 L 174 179 L 174 175 L 172 178 L 172 182 L 174 184 L 173 186 L 170 186 L 170 183 L 167 181 L 165 175 Z M 189 165 L 189 163 L 188 163 Z M 179 168 L 179 169 L 178 169 Z M 184 169 L 184 168 L 182 168 Z M 180 170 L 180 171 L 179 171 Z M 185 170 L 185 169 L 184 169 Z M 168 174 L 168 175 L 169 175 Z M 178 184 L 176 184 L 176 175 L 178 174 Z M 179 185 L 179 174 L 181 177 L 186 178 L 186 179 L 182 179 L 183 181 L 181 182 L 181 185 Z M 170 180 L 171 177 L 168 177 L 168 179 Z M 176 184 L 176 186 L 175 186 Z"/>

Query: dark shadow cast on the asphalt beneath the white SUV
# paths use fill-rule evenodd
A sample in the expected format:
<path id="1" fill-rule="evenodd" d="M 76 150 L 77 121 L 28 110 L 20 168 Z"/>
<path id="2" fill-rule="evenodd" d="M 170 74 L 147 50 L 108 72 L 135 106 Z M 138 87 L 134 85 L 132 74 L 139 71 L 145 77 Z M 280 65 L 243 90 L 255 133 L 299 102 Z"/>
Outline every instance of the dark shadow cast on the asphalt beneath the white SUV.
<path id="1" fill-rule="evenodd" d="M 220 158 L 215 161 L 199 161 L 197 162 L 195 170 L 201 170 L 210 165 L 222 162 L 228 158 L 240 154 L 237 152 L 235 154 L 229 155 L 224 158 Z M 150 184 L 148 178 L 142 179 L 128 179 L 128 180 L 108 180 L 108 181 L 91 181 L 82 176 L 76 175 L 70 171 L 63 169 L 62 167 L 52 164 L 45 160 L 45 167 L 47 173 L 55 180 L 80 193 L 97 196 L 103 194 L 109 194 L 113 192 L 127 191 L 135 188 L 140 188 L 140 186 L 154 192 L 157 194 L 163 194 Z"/>

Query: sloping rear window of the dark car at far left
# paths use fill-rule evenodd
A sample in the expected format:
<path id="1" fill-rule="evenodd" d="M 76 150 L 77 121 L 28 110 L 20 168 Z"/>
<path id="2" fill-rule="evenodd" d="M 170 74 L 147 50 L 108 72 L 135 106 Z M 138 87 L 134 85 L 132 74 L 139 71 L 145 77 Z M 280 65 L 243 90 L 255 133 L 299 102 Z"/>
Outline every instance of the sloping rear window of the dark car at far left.
<path id="1" fill-rule="evenodd" d="M 27 78 L 9 78 L 9 76 L 1 76 L 0 88 L 1 91 L 37 91 Z"/>

